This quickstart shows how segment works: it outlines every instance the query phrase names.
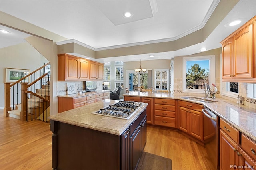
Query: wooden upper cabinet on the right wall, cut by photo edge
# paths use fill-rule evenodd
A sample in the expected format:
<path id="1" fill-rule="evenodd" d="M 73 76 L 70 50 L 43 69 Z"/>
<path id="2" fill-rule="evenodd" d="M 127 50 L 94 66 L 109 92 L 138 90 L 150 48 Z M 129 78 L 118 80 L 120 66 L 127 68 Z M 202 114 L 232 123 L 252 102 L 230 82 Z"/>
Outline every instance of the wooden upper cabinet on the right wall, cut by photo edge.
<path id="1" fill-rule="evenodd" d="M 256 16 L 222 42 L 222 81 L 256 81 Z"/>

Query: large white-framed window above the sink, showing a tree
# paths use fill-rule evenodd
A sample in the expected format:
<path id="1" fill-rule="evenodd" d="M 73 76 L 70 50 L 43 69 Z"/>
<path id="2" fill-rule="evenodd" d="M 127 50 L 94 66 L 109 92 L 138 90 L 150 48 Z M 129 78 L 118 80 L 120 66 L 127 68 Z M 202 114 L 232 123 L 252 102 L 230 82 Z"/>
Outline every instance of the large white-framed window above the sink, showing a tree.
<path id="1" fill-rule="evenodd" d="M 215 82 L 215 55 L 183 57 L 183 92 L 204 93 L 204 83 Z"/>

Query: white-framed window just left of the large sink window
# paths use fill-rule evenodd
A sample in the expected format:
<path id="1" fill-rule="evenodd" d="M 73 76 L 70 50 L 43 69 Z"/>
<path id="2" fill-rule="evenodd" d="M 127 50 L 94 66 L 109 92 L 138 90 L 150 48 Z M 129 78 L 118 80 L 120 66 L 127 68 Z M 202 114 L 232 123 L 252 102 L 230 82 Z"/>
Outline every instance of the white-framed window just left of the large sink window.
<path id="1" fill-rule="evenodd" d="M 156 89 L 168 90 L 169 80 L 168 69 L 155 70 L 155 87 Z"/>

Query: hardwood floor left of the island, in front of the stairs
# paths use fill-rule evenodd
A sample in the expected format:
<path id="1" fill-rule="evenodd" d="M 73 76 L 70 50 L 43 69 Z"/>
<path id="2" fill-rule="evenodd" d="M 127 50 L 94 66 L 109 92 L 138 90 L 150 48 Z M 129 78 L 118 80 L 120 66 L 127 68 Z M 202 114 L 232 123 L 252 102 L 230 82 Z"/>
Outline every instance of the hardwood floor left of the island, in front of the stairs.
<path id="1" fill-rule="evenodd" d="M 49 123 L 22 122 L 0 110 L 0 170 L 51 170 Z"/>

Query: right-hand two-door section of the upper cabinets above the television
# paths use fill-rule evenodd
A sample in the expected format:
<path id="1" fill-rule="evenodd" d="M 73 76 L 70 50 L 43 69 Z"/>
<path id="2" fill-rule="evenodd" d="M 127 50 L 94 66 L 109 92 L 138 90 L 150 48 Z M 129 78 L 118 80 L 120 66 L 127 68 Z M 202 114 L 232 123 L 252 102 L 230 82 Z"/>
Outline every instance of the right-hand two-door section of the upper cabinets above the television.
<path id="1" fill-rule="evenodd" d="M 102 63 L 90 61 L 90 79 L 103 80 L 103 67 Z"/>

